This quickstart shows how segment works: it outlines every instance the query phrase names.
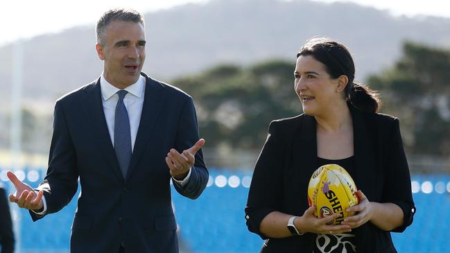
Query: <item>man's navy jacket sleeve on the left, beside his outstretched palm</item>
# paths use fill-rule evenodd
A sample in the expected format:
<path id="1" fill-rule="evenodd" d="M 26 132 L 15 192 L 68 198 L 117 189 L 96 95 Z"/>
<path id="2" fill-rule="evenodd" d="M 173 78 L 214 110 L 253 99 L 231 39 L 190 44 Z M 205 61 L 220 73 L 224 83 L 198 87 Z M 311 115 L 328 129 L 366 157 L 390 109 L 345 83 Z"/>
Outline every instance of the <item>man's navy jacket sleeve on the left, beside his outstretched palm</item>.
<path id="1" fill-rule="evenodd" d="M 37 189 L 44 191 L 47 211 L 44 215 L 30 211 L 34 221 L 43 218 L 48 213 L 60 211 L 62 207 L 69 204 L 78 189 L 76 151 L 60 101 L 56 103 L 53 115 L 49 168 L 44 181 Z"/>

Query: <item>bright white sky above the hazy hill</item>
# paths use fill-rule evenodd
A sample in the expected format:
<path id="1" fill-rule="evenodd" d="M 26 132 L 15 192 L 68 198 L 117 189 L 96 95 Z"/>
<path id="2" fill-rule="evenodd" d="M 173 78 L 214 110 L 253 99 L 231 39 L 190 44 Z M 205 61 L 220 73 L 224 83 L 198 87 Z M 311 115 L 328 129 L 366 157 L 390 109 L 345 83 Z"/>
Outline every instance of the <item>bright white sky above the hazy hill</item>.
<path id="1" fill-rule="evenodd" d="M 114 7 L 133 8 L 139 12 L 148 12 L 150 10 L 171 8 L 184 3 L 206 3 L 207 1 L 208 0 L 7 0 L 0 3 L 2 9 L 0 15 L 0 46 L 21 38 L 29 38 L 43 33 L 57 33 L 60 30 L 73 26 L 94 24 L 105 10 Z M 334 2 L 336 0 L 313 1 Z M 364 6 L 373 6 L 383 10 L 390 10 L 393 15 L 433 15 L 450 17 L 450 1 L 448 0 L 347 1 L 359 3 Z"/>

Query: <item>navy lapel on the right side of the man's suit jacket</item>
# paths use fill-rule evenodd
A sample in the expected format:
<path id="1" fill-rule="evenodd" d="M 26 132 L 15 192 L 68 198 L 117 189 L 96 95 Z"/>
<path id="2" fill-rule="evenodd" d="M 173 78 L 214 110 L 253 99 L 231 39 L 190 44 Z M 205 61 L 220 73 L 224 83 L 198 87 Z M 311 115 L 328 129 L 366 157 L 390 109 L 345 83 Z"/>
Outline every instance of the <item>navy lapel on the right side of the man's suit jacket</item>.
<path id="1" fill-rule="evenodd" d="M 148 78 L 145 73 L 141 73 L 146 78 L 146 88 L 144 95 L 144 105 L 142 106 L 141 121 L 139 121 L 139 128 L 135 141 L 135 148 L 133 149 L 130 168 L 128 169 L 127 180 L 137 167 L 139 158 L 144 152 L 149 141 L 150 132 L 162 112 L 164 96 L 162 96 L 162 89 L 164 88 L 159 82 Z"/>

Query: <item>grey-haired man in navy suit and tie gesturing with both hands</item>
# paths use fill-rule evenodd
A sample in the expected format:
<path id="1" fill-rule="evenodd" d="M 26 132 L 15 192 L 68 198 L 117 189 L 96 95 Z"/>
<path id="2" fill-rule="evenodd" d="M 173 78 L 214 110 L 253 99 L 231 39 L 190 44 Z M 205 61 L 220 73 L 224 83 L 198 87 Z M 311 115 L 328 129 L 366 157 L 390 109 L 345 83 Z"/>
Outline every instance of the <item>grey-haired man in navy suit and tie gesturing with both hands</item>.
<path id="1" fill-rule="evenodd" d="M 71 252 L 178 252 L 169 182 L 195 199 L 208 180 L 193 100 L 141 73 L 138 12 L 105 12 L 96 33 L 103 74 L 56 102 L 45 180 L 33 191 L 8 172 L 10 201 L 38 220 L 69 203 L 79 177 Z"/>

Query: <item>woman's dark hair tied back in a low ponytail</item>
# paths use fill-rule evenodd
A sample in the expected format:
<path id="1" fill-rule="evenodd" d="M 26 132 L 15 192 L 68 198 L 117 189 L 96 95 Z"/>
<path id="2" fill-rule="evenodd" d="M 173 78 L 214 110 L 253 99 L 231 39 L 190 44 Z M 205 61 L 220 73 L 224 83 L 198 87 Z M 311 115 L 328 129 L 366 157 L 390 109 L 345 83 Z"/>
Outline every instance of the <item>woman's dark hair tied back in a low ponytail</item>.
<path id="1" fill-rule="evenodd" d="M 297 58 L 300 55 L 311 55 L 315 60 L 322 62 L 327 67 L 327 73 L 331 78 L 347 76 L 348 83 L 344 90 L 345 99 L 356 109 L 362 112 L 378 112 L 381 108 L 379 94 L 376 91 L 353 82 L 355 65 L 352 55 L 343 44 L 329 38 L 314 37 L 306 41 L 297 53 Z"/>

